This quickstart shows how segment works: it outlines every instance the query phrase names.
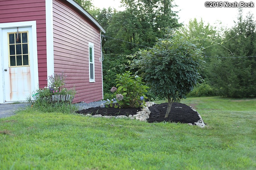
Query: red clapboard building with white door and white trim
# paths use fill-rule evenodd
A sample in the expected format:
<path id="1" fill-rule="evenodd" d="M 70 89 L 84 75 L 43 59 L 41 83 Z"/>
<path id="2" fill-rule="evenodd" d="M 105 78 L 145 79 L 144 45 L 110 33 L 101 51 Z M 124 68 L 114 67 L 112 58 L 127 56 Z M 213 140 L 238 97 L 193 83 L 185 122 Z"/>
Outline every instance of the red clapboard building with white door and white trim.
<path id="1" fill-rule="evenodd" d="M 62 71 L 74 103 L 101 100 L 101 31 L 74 0 L 0 0 L 0 103 L 25 101 Z"/>

